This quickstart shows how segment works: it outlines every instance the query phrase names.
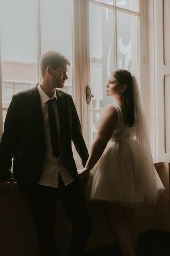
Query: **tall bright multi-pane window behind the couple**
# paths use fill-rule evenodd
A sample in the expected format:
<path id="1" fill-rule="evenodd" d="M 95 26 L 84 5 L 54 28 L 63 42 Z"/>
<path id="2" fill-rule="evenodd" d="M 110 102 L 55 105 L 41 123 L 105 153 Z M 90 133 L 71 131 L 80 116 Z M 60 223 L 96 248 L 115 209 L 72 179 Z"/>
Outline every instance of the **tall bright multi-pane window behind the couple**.
<path id="1" fill-rule="evenodd" d="M 156 5 L 162 6 L 162 1 Z M 169 2 L 164 0 L 164 5 L 166 14 L 166 11 L 169 10 Z M 149 74 L 150 82 L 145 77 L 149 77 L 147 61 L 152 59 L 150 64 L 153 68 L 154 58 L 157 56 L 155 48 L 151 49 L 153 44 L 149 46 L 151 51 L 148 52 L 148 42 L 143 40 L 143 38 L 147 38 L 148 31 L 149 34 L 154 32 L 154 15 L 150 16 L 154 26 L 150 27 L 150 30 L 146 30 L 147 32 L 143 29 L 147 11 L 150 14 L 154 14 L 155 11 L 150 1 L 0 0 L 0 10 L 1 121 L 5 118 L 12 95 L 19 90 L 27 89 L 26 87 L 31 88 L 39 82 L 37 67 L 40 53 L 48 49 L 63 53 L 71 62 L 71 67 L 68 69 L 68 80 L 63 90 L 71 94 L 74 99 L 82 124 L 83 136 L 89 149 L 97 132 L 95 123 L 103 108 L 113 102 L 113 99 L 105 96 L 105 85 L 109 74 L 116 68 L 128 69 L 133 72 L 138 81 L 142 81 L 141 91 L 145 106 L 148 106 L 147 112 L 150 113 L 152 106 L 151 112 L 155 111 L 155 105 L 149 105 L 149 96 L 147 95 L 147 89 L 151 86 L 150 82 L 153 82 L 152 74 L 154 75 L 155 71 Z M 159 14 L 161 10 L 158 6 Z M 163 24 L 159 16 L 156 13 L 157 24 Z M 165 24 L 167 31 L 168 26 Z M 161 25 L 159 25 L 160 27 Z M 148 25 L 145 28 L 148 29 Z M 159 37 L 153 33 L 153 40 L 155 38 Z M 165 37 L 166 42 L 168 42 L 167 36 Z M 166 52 L 168 49 L 166 46 Z M 166 56 L 169 56 L 168 53 Z M 168 61 L 165 60 L 167 69 Z M 161 58 L 156 63 L 158 62 L 161 62 Z M 156 72 L 156 74 L 158 73 Z M 166 74 L 167 86 L 169 73 Z M 87 85 L 90 86 L 91 93 L 94 94 L 90 105 L 86 104 L 85 88 Z M 166 104 L 168 106 L 167 98 Z M 161 106 L 161 108 L 163 107 Z M 155 113 L 157 115 L 157 112 Z M 151 124 L 150 127 L 157 124 L 156 118 L 157 116 L 153 120 L 154 124 Z M 168 123 L 166 123 L 166 131 L 168 131 L 167 125 Z M 0 129 L 1 135 L 2 125 Z M 150 132 L 150 134 L 151 137 L 154 136 L 154 140 L 157 140 L 157 131 Z M 153 142 L 153 140 L 151 141 Z M 154 150 L 155 145 L 158 146 L 158 144 L 152 144 Z"/>

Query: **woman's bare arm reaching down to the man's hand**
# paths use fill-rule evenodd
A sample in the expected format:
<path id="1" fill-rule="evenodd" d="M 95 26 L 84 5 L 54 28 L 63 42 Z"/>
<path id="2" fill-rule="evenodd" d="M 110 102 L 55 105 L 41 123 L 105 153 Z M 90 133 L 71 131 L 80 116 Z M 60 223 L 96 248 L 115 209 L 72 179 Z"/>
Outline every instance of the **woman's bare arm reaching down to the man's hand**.
<path id="1" fill-rule="evenodd" d="M 79 174 L 88 173 L 96 165 L 103 154 L 107 142 L 112 137 L 117 120 L 118 112 L 116 108 L 113 105 L 106 106 L 101 114 L 97 137 L 92 144 L 86 166 L 78 171 Z"/>

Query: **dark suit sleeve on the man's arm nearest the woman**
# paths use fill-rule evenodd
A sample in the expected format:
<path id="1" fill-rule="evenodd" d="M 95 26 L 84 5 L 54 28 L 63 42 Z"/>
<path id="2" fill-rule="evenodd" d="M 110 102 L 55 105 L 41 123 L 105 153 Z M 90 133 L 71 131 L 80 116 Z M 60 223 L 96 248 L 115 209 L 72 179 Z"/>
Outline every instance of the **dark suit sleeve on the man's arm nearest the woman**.
<path id="1" fill-rule="evenodd" d="M 72 141 L 74 146 L 82 159 L 83 167 L 85 167 L 87 159 L 88 159 L 88 150 L 83 139 L 81 125 L 77 110 L 72 101 Z"/>

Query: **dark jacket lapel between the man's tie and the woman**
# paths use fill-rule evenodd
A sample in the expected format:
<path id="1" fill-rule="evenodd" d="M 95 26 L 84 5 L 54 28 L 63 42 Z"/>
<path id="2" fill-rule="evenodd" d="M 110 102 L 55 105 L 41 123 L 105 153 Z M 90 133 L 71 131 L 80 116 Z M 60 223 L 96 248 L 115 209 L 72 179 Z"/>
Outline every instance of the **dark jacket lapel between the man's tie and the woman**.
<path id="1" fill-rule="evenodd" d="M 65 112 L 65 100 L 62 96 L 63 94 L 61 91 L 56 90 L 57 95 L 57 111 L 58 111 L 58 118 L 60 122 L 60 134 L 63 136 L 64 134 L 64 112 Z"/>

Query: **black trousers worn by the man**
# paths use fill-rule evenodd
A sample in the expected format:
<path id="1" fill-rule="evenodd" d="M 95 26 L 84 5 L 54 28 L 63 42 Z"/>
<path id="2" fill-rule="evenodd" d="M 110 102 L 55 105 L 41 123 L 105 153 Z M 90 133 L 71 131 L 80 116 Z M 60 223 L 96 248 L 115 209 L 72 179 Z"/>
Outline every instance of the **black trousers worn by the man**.
<path id="1" fill-rule="evenodd" d="M 92 225 L 80 185 L 73 181 L 65 186 L 59 174 L 58 188 L 37 185 L 27 193 L 37 230 L 40 256 L 57 256 L 55 242 L 55 203 L 59 197 L 72 223 L 68 256 L 84 255 Z"/>

